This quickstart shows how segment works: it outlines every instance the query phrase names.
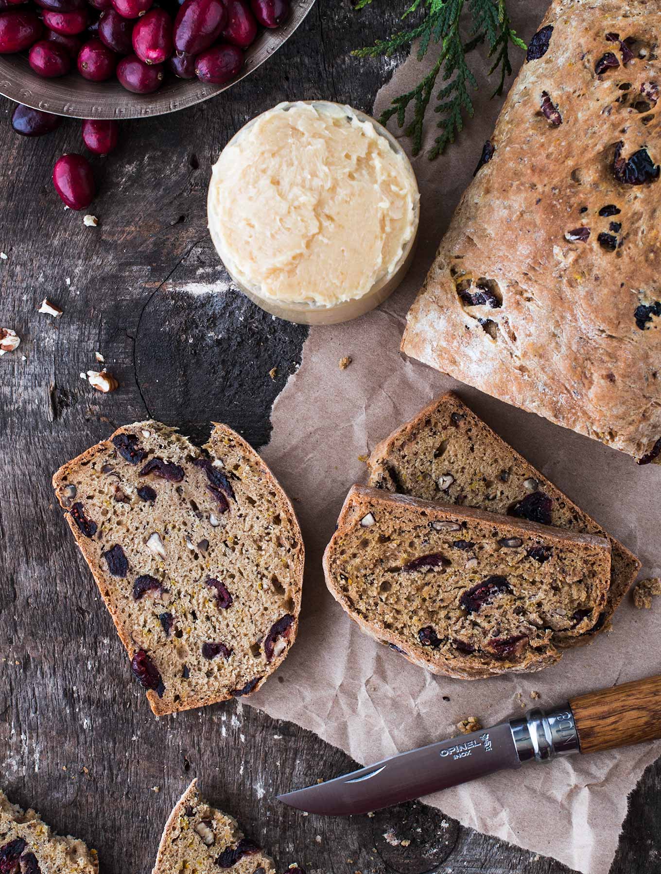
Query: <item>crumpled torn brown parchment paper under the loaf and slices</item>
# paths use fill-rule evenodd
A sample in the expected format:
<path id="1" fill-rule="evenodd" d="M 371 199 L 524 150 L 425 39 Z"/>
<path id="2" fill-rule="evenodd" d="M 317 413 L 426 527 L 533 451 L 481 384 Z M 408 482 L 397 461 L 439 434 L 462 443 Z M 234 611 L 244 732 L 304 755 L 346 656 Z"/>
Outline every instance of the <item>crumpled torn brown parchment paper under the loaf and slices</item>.
<path id="1" fill-rule="evenodd" d="M 508 6 L 518 32 L 529 39 L 546 3 L 509 0 Z M 522 54 L 512 52 L 516 66 Z M 484 49 L 471 55 L 471 66 L 484 73 Z M 411 87 L 419 74 L 415 59 L 400 66 L 379 93 L 374 114 L 393 94 Z M 273 437 L 263 453 L 294 499 L 303 526 L 307 571 L 298 640 L 279 671 L 284 682 L 267 683 L 247 701 L 273 717 L 317 732 L 362 764 L 456 734 L 456 723 L 467 716 L 490 725 L 520 714 L 522 707 L 559 704 L 584 691 L 661 672 L 661 604 L 639 611 L 626 599 L 612 632 L 589 647 L 567 651 L 552 668 L 467 682 L 432 676 L 363 635 L 324 586 L 324 546 L 347 489 L 365 479 L 365 464 L 358 456 L 368 454 L 378 440 L 449 388 L 636 552 L 644 576 L 661 573 L 661 468 L 640 468 L 593 440 L 400 355 L 407 309 L 470 182 L 499 107 L 500 101 L 488 101 L 484 87 L 477 95 L 476 118 L 460 142 L 435 163 L 424 155 L 414 160 L 421 188 L 414 267 L 377 311 L 351 323 L 310 331 L 303 364 L 275 403 Z M 397 128 L 391 129 L 399 135 Z M 434 135 L 428 126 L 428 142 Z M 403 144 L 408 147 L 407 141 Z M 353 360 L 341 371 L 338 361 L 346 355 Z M 539 701 L 532 702 L 532 690 L 539 691 Z M 428 801 L 465 825 L 553 856 L 586 874 L 606 874 L 627 795 L 659 753 L 661 746 L 646 744 L 529 765 Z M 313 780 L 316 775 L 309 776 Z"/>

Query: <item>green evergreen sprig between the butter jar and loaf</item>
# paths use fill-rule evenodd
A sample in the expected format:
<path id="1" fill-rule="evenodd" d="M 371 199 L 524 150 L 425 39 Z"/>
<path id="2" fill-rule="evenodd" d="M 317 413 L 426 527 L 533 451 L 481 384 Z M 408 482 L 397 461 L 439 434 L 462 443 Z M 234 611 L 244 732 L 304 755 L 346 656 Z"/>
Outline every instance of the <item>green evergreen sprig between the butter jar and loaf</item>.
<path id="1" fill-rule="evenodd" d="M 364 9 L 369 3 L 372 0 L 358 0 L 356 9 Z M 466 56 L 481 43 L 489 46 L 489 58 L 493 59 L 489 75 L 496 71 L 499 73 L 499 81 L 491 97 L 503 94 L 505 79 L 511 74 L 510 44 L 525 49 L 525 42 L 511 29 L 505 3 L 506 0 L 413 0 L 402 20 L 418 13 L 416 24 L 353 52 L 359 58 L 388 57 L 417 40 L 417 58 L 421 60 L 432 44 L 439 46 L 438 58 L 429 73 L 411 91 L 395 97 L 379 119 L 386 124 L 393 115 L 397 116 L 400 128 L 404 128 L 405 135 L 413 140 L 414 155 L 421 149 L 425 114 L 441 71 L 442 83 L 445 84 L 435 94 L 434 108 L 440 116 L 436 127 L 440 128 L 441 133 L 435 138 L 429 157 L 433 159 L 441 155 L 449 142 L 455 142 L 456 135 L 463 128 L 464 114 L 470 117 L 474 114 L 470 88 L 477 90 L 478 83 L 466 62 Z M 470 32 L 465 42 L 460 29 L 464 7 L 469 10 L 471 18 Z M 411 104 L 413 116 L 407 123 L 407 109 Z"/>

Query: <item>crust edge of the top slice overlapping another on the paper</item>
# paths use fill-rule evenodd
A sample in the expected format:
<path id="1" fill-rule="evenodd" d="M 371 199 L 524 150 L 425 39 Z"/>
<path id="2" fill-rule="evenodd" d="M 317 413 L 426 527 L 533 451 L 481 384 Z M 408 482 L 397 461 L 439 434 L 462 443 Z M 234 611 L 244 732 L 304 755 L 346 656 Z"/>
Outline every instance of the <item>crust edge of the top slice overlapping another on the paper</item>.
<path id="1" fill-rule="evenodd" d="M 452 676 L 456 679 L 475 680 L 484 679 L 489 676 L 495 676 L 503 673 L 530 673 L 546 668 L 548 665 L 557 662 L 562 653 L 561 650 L 555 649 L 552 645 L 549 646 L 547 653 L 529 653 L 525 659 L 516 664 L 508 664 L 506 667 L 502 663 L 496 662 L 494 659 L 491 665 L 477 664 L 476 660 L 471 659 L 469 655 L 462 655 L 457 652 L 451 661 L 445 658 L 441 653 L 435 652 L 432 648 L 416 647 L 417 652 L 412 653 L 413 649 L 410 639 L 401 635 L 395 629 L 388 629 L 376 625 L 372 621 L 366 620 L 358 614 L 357 610 L 351 603 L 351 600 L 345 596 L 335 573 L 332 568 L 334 554 L 336 549 L 341 545 L 345 533 L 351 531 L 355 527 L 356 520 L 365 517 L 366 514 L 374 512 L 383 512 L 387 515 L 397 514 L 400 509 L 414 508 L 415 510 L 423 511 L 425 518 L 430 522 L 439 521 L 456 521 L 463 519 L 473 519 L 478 522 L 487 523 L 497 528 L 499 533 L 504 537 L 509 537 L 512 534 L 517 535 L 521 532 L 531 535 L 541 535 L 545 542 L 551 545 L 575 546 L 584 545 L 595 549 L 602 553 L 602 564 L 605 569 L 605 578 L 602 580 L 602 602 L 605 601 L 606 592 L 608 589 L 608 572 L 609 572 L 609 557 L 610 545 L 606 538 L 595 537 L 591 534 L 574 534 L 557 528 L 551 528 L 547 525 L 539 525 L 533 522 L 528 522 L 525 519 L 510 519 L 508 517 L 496 516 L 493 513 L 478 510 L 473 507 L 456 507 L 442 504 L 437 501 L 423 501 L 420 498 L 393 494 L 384 492 L 381 489 L 372 489 L 369 486 L 354 485 L 351 487 L 349 494 L 344 500 L 342 510 L 337 519 L 337 530 L 330 539 L 324 551 L 324 577 L 326 586 L 332 596 L 337 600 L 344 611 L 351 616 L 358 626 L 371 637 L 375 638 L 380 643 L 386 643 L 397 649 L 409 662 L 428 669 L 433 674 L 442 674 Z"/>

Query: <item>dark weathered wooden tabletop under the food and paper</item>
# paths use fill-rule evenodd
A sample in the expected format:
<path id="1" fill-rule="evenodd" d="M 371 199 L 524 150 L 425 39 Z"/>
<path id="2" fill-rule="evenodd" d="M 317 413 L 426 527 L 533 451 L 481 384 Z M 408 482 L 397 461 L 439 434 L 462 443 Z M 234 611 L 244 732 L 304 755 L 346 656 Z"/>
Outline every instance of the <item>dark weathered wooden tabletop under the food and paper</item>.
<path id="1" fill-rule="evenodd" d="M 217 418 L 256 447 L 268 441 L 271 404 L 307 332 L 232 290 L 204 294 L 223 279 L 205 228 L 209 168 L 248 118 L 278 101 L 330 97 L 369 111 L 392 63 L 348 50 L 385 35 L 400 6 L 374 3 L 358 17 L 349 0 L 319 0 L 239 86 L 125 123 L 120 148 L 94 161 L 97 228 L 63 210 L 50 178 L 62 152 L 81 149 L 80 124 L 24 139 L 3 105 L 0 323 L 23 342 L 0 359 L 0 785 L 98 848 L 102 874 L 150 871 L 165 818 L 195 775 L 281 871 L 295 861 L 337 874 L 567 871 L 417 802 L 351 820 L 283 808 L 276 791 L 352 762 L 238 702 L 152 717 L 53 505 L 53 470 L 127 421 L 152 416 L 198 438 Z M 46 295 L 64 309 L 57 320 L 37 312 Z M 97 368 L 96 350 L 120 381 L 112 394 L 80 379 Z M 611 874 L 661 871 L 659 815 L 661 760 L 631 796 Z M 410 844 L 393 846 L 388 833 Z"/>

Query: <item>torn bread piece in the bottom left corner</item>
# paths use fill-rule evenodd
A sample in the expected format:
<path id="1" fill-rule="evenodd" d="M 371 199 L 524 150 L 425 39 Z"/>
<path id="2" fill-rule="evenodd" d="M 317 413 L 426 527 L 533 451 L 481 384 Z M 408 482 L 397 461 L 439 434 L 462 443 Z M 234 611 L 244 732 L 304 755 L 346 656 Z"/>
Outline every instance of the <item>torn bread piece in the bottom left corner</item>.
<path id="1" fill-rule="evenodd" d="M 0 871 L 3 874 L 97 874 L 96 850 L 56 835 L 34 810 L 12 804 L 0 789 Z"/>

